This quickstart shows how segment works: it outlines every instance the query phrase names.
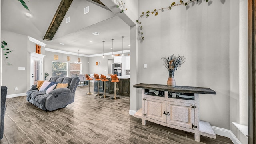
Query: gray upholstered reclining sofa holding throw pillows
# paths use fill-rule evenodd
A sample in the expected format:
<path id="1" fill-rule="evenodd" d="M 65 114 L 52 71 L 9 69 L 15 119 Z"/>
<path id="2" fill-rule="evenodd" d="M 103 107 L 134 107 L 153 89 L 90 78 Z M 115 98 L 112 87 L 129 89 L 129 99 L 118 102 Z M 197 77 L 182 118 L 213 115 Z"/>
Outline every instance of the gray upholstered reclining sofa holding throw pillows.
<path id="1" fill-rule="evenodd" d="M 53 76 L 49 81 L 56 83 L 68 83 L 68 87 L 54 89 L 50 93 L 46 94 L 46 90 L 39 92 L 36 88 L 37 85 L 33 85 L 32 88 L 26 92 L 28 102 L 42 110 L 48 111 L 63 108 L 74 102 L 75 91 L 79 83 L 79 78 Z"/>

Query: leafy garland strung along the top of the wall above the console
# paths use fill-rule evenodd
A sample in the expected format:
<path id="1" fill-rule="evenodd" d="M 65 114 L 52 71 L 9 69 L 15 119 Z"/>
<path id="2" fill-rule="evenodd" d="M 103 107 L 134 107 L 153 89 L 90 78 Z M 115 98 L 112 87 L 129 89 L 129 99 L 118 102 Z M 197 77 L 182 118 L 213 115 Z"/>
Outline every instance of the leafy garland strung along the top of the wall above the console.
<path id="1" fill-rule="evenodd" d="M 187 6 L 188 4 L 190 4 L 190 3 L 192 3 L 192 2 L 198 2 L 198 1 L 200 1 L 200 0 L 188 0 L 188 2 L 184 2 L 184 1 L 182 1 L 182 0 L 180 0 L 180 3 L 178 3 L 178 4 L 176 4 L 175 2 L 172 2 L 172 4 L 170 4 L 170 6 L 167 6 L 167 7 L 165 7 L 165 8 L 159 8 L 159 9 L 154 9 L 154 10 L 152 10 L 152 11 L 147 11 L 147 12 L 142 12 L 142 14 L 140 15 L 140 17 L 138 18 L 138 20 L 136 20 L 136 23 L 138 24 L 138 36 L 139 36 L 139 38 L 140 38 L 140 41 L 143 41 L 144 40 L 144 36 L 143 36 L 143 32 L 142 32 L 142 25 L 141 25 L 141 22 L 140 22 L 140 18 L 142 18 L 142 17 L 145 17 L 146 16 L 146 18 L 148 17 L 148 16 L 150 16 L 150 14 L 152 15 L 152 14 L 154 14 L 154 16 L 157 16 L 158 15 L 158 11 L 159 10 L 161 10 L 161 11 L 163 11 L 163 10 L 165 10 L 165 9 L 167 9 L 167 10 L 171 10 L 172 9 L 172 7 L 174 7 L 174 6 Z M 208 2 L 209 0 L 206 0 L 206 2 Z"/>

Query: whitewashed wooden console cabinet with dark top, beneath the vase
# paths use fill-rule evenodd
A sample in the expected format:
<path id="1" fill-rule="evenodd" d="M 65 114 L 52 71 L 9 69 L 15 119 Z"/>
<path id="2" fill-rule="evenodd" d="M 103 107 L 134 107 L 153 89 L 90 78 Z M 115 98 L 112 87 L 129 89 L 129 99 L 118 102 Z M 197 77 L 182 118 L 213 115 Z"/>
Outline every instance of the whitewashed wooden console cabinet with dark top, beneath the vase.
<path id="1" fill-rule="evenodd" d="M 146 120 L 170 128 L 176 128 L 195 134 L 195 140 L 200 141 L 200 135 L 216 138 L 208 122 L 199 120 L 199 94 L 216 94 L 210 88 L 176 86 L 174 88 L 157 84 L 136 84 L 142 88 L 142 108 L 134 114 Z"/>

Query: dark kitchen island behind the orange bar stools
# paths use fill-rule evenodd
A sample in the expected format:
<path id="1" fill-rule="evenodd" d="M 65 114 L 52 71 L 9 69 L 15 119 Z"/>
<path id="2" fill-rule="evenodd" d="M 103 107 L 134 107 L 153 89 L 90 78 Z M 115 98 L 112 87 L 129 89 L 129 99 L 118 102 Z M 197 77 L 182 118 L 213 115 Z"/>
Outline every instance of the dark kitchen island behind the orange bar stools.
<path id="1" fill-rule="evenodd" d="M 106 93 L 114 94 L 114 82 L 111 82 L 109 76 L 107 76 L 108 82 L 106 82 Z M 130 96 L 130 76 L 118 76 L 119 82 L 116 83 L 116 94 L 121 96 Z M 99 91 L 104 92 L 104 83 L 99 81 Z M 98 92 L 98 81 L 94 80 L 94 92 Z"/>

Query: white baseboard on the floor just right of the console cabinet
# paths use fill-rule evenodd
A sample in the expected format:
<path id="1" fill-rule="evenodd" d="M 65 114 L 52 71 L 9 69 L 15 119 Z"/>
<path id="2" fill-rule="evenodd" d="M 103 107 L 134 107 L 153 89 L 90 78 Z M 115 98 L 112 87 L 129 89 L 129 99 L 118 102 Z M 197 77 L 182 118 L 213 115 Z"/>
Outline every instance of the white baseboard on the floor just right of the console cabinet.
<path id="1" fill-rule="evenodd" d="M 233 132 L 231 130 L 225 129 L 225 128 L 219 128 L 216 126 L 212 126 L 212 130 L 215 132 L 215 134 L 218 134 L 220 136 L 225 136 L 230 138 L 230 140 L 234 143 L 234 144 L 242 144 L 238 138 L 236 138 L 236 136 L 233 134 Z"/>

